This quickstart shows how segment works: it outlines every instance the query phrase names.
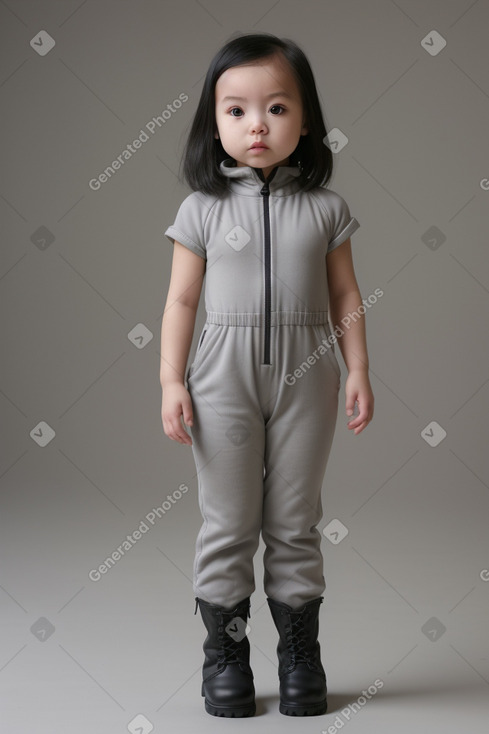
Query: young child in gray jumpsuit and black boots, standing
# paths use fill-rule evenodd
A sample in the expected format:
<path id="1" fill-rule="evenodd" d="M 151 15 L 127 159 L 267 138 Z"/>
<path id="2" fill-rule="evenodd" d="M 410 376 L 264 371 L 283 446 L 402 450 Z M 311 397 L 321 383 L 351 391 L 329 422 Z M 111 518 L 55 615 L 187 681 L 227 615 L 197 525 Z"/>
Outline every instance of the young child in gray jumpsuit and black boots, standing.
<path id="1" fill-rule="evenodd" d="M 192 446 L 197 469 L 204 522 L 193 590 L 208 633 L 201 692 L 215 716 L 256 711 L 245 630 L 260 532 L 279 710 L 327 710 L 316 526 L 341 380 L 328 316 L 334 328 L 362 300 L 350 243 L 360 225 L 326 188 L 325 136 L 301 49 L 270 34 L 234 38 L 207 72 L 184 154 L 193 191 L 165 232 L 174 248 L 162 422 L 169 438 Z M 204 274 L 207 318 L 185 374 Z M 359 411 L 348 428 L 358 434 L 374 396 L 364 319 L 351 321 L 338 343 L 346 413 L 355 403 Z"/>

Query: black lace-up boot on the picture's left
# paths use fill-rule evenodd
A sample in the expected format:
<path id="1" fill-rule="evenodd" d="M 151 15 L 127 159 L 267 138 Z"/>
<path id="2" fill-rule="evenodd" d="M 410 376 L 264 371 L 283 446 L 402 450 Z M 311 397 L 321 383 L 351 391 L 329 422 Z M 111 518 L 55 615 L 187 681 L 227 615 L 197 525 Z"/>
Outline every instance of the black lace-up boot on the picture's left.
<path id="1" fill-rule="evenodd" d="M 250 642 L 245 633 L 250 597 L 229 610 L 198 597 L 195 602 L 195 614 L 199 606 L 208 632 L 202 668 L 205 710 L 213 716 L 253 716 L 255 686 L 250 668 Z"/>

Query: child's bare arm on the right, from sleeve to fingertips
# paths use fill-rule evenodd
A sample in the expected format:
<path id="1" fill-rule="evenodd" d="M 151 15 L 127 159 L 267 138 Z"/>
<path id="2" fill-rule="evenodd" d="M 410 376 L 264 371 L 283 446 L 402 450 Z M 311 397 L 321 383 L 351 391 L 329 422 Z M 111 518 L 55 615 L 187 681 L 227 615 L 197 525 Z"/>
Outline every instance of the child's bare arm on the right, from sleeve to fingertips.
<path id="1" fill-rule="evenodd" d="M 355 402 L 359 409 L 358 416 L 349 421 L 348 428 L 355 429 L 357 434 L 372 420 L 374 395 L 368 377 L 365 316 L 358 310 L 362 305 L 362 296 L 353 268 L 349 237 L 326 255 L 326 263 L 331 324 L 333 329 L 339 327 L 338 344 L 348 368 L 346 414 L 353 415 Z M 354 318 L 351 318 L 351 314 L 354 314 Z M 342 323 L 342 319 L 349 315 L 350 319 Z"/>

